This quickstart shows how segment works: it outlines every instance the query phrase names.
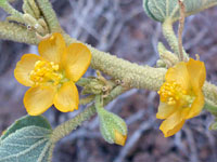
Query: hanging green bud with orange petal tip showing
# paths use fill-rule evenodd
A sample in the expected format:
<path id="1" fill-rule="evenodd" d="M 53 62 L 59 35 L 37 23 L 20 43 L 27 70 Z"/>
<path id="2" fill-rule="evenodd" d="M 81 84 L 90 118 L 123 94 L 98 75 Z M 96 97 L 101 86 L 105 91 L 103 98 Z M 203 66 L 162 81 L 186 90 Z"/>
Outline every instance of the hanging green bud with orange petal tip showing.
<path id="1" fill-rule="evenodd" d="M 98 108 L 97 110 L 100 118 L 100 131 L 103 138 L 110 144 L 124 146 L 127 138 L 127 125 L 125 121 L 104 108 Z"/>

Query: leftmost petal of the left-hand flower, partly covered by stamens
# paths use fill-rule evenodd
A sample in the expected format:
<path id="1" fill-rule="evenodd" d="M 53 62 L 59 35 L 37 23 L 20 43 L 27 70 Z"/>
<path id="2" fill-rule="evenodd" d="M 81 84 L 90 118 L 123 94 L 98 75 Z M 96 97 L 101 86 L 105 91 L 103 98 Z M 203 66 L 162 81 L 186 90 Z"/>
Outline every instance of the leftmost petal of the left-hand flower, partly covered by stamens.
<path id="1" fill-rule="evenodd" d="M 21 58 L 21 60 L 16 64 L 16 68 L 14 70 L 15 79 L 25 86 L 31 86 L 34 82 L 29 78 L 29 72 L 34 70 L 35 63 L 37 60 L 41 60 L 40 56 L 35 54 L 25 54 Z"/>

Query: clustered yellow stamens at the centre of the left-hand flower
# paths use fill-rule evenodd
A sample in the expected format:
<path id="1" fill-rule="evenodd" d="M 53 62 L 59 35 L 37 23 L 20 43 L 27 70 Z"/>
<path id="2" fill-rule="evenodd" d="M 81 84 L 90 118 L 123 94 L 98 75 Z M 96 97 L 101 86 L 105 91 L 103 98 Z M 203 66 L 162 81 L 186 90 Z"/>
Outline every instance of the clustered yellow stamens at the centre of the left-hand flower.
<path id="1" fill-rule="evenodd" d="M 35 85 L 49 82 L 58 85 L 63 79 L 59 69 L 59 65 L 53 62 L 38 60 L 35 63 L 35 68 L 30 71 L 29 78 Z"/>

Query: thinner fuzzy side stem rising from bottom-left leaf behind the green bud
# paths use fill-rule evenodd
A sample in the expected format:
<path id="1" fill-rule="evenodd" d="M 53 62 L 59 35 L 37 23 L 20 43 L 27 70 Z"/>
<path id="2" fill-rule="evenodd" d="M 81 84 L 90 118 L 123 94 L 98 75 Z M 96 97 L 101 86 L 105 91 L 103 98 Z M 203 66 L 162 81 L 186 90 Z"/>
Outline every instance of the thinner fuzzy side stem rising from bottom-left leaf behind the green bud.
<path id="1" fill-rule="evenodd" d="M 124 93 L 126 89 L 122 86 L 116 86 L 108 97 L 104 99 L 104 105 L 107 105 L 111 100 L 113 100 L 115 97 Z M 95 114 L 95 107 L 92 105 L 88 108 L 86 108 L 82 112 L 80 112 L 78 116 L 73 118 L 72 120 L 68 120 L 58 127 L 54 129 L 53 134 L 51 136 L 52 144 L 55 144 L 66 135 L 68 135 L 72 131 L 76 130 L 77 126 L 81 125 L 81 123 L 86 120 L 89 120 L 92 116 Z"/>

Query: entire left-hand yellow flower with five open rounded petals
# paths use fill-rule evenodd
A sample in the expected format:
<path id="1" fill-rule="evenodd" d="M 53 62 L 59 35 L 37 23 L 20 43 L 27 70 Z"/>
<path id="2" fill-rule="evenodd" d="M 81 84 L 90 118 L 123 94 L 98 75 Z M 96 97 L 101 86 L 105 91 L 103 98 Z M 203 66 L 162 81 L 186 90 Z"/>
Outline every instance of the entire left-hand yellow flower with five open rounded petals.
<path id="1" fill-rule="evenodd" d="M 81 43 L 66 46 L 61 33 L 53 33 L 38 45 L 40 56 L 25 54 L 14 70 L 16 80 L 31 86 L 24 96 L 30 116 L 43 113 L 53 104 L 62 112 L 78 109 L 75 82 L 90 65 L 91 53 Z"/>

